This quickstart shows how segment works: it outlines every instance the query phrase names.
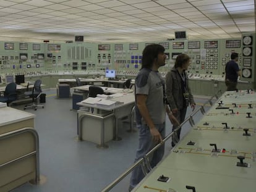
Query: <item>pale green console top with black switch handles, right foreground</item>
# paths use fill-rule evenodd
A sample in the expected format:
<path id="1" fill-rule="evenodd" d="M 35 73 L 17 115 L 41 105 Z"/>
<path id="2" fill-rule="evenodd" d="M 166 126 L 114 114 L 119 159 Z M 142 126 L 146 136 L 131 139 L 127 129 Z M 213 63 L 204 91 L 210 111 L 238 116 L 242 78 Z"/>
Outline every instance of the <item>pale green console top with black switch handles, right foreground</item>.
<path id="1" fill-rule="evenodd" d="M 241 93 L 244 93 L 242 91 Z M 191 191 L 186 185 L 194 186 L 195 191 L 255 191 L 256 190 L 256 107 L 252 94 L 230 91 L 223 94 L 219 101 L 228 109 L 216 109 L 216 103 L 200 122 L 173 148 L 170 154 L 158 164 L 133 190 L 143 191 Z M 240 97 L 240 99 L 237 99 Z M 237 102 L 240 107 L 233 107 Z M 252 104 L 252 109 L 248 109 Z M 250 111 L 252 118 L 247 118 L 245 111 Z M 209 123 L 209 125 L 205 124 Z M 222 123 L 228 123 L 229 129 Z M 205 125 L 204 125 L 205 124 Z M 244 136 L 243 128 L 249 128 L 250 136 Z M 194 145 L 188 145 L 190 141 Z M 212 152 L 216 144 L 221 152 Z M 225 149 L 223 151 L 223 149 Z M 250 167 L 238 167 L 237 156 L 244 156 L 243 162 Z M 164 175 L 170 182 L 158 182 Z M 146 186 L 146 187 L 145 187 Z"/>

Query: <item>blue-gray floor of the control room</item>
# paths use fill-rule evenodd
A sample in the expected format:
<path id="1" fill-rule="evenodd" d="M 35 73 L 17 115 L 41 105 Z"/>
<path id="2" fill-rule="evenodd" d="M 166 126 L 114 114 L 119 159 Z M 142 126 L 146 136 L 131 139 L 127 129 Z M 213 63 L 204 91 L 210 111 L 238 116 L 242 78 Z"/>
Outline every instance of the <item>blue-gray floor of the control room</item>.
<path id="1" fill-rule="evenodd" d="M 72 99 L 56 99 L 56 90 L 48 90 L 44 109 L 26 109 L 36 115 L 35 129 L 40 138 L 40 175 L 46 178 L 41 185 L 25 183 L 12 192 L 71 192 L 101 191 L 113 182 L 134 162 L 138 145 L 137 132 L 129 133 L 129 123 L 119 122 L 121 141 L 110 141 L 108 149 L 98 149 L 96 144 L 77 140 L 77 112 L 72 109 Z M 197 106 L 207 102 L 195 97 Z M 24 105 L 13 106 L 23 110 Z M 208 109 L 209 105 L 207 105 Z M 188 109 L 187 114 L 191 110 Z M 195 115 L 195 122 L 202 117 Z M 181 136 L 190 125 L 182 127 Z M 166 133 L 171 124 L 166 123 Z M 171 141 L 166 143 L 166 154 L 171 150 Z M 130 175 L 111 191 L 128 191 Z"/>

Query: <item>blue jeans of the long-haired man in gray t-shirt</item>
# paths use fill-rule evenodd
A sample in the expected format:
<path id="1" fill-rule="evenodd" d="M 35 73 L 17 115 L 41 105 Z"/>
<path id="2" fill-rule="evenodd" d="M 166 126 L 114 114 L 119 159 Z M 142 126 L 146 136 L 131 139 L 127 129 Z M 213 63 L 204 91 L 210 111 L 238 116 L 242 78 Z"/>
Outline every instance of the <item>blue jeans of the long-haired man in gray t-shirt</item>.
<path id="1" fill-rule="evenodd" d="M 144 157 L 151 149 L 153 149 L 156 144 L 153 141 L 153 138 L 150 133 L 150 129 L 147 125 L 137 125 L 139 128 L 139 148 L 136 152 L 135 161 L 138 161 L 140 158 Z M 165 136 L 165 123 L 155 125 L 156 129 L 161 134 L 162 138 Z M 161 161 L 164 155 L 164 144 L 158 148 L 153 155 L 150 157 L 150 165 L 151 167 L 155 167 L 158 162 Z M 132 190 L 143 178 L 145 175 L 142 172 L 142 167 L 137 166 L 133 172 L 132 177 L 130 178 L 130 190 Z"/>

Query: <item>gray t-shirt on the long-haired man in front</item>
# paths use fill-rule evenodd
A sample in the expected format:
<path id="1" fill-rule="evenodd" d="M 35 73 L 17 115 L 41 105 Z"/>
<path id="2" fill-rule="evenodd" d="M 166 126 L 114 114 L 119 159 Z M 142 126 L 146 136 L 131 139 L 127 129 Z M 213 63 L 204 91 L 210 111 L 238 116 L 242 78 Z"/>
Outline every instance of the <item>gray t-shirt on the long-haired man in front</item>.
<path id="1" fill-rule="evenodd" d="M 163 86 L 164 80 L 160 73 L 150 69 L 141 69 L 135 79 L 135 94 L 147 94 L 146 104 L 154 124 L 165 122 Z M 136 109 L 136 121 L 145 124 L 138 108 Z"/>

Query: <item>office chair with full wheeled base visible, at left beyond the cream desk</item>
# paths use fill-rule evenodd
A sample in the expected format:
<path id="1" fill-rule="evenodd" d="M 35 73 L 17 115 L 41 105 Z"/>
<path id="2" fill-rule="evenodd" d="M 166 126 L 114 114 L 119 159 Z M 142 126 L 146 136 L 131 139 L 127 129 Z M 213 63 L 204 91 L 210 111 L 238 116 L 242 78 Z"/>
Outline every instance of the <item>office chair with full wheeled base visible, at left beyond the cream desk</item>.
<path id="1" fill-rule="evenodd" d="M 40 95 L 42 94 L 42 90 L 41 90 L 41 80 L 36 80 L 34 83 L 34 87 L 32 91 L 25 91 L 25 96 L 29 96 L 30 98 L 32 98 L 32 104 L 30 105 L 26 105 L 24 106 L 24 110 L 27 108 L 34 108 L 35 111 L 37 109 L 37 107 L 42 107 L 44 108 L 45 106 L 38 104 L 39 102 L 39 98 Z"/>

